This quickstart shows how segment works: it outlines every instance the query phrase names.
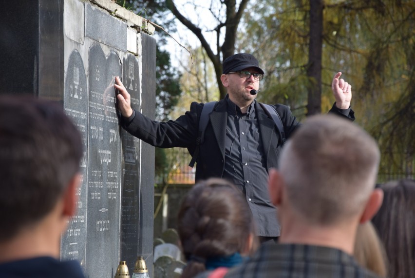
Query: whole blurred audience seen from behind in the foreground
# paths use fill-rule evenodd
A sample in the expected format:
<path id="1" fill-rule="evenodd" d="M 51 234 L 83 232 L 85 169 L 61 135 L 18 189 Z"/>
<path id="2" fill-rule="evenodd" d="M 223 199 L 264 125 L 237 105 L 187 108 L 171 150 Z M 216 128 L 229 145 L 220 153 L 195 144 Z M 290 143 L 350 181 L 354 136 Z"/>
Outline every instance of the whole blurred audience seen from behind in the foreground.
<path id="1" fill-rule="evenodd" d="M 83 277 L 77 262 L 59 261 L 81 156 L 61 107 L 0 97 L 0 277 Z M 308 118 L 269 169 L 282 230 L 262 244 L 244 194 L 225 179 L 199 181 L 178 214 L 181 277 L 415 278 L 415 181 L 375 186 L 379 160 L 351 121 Z"/>

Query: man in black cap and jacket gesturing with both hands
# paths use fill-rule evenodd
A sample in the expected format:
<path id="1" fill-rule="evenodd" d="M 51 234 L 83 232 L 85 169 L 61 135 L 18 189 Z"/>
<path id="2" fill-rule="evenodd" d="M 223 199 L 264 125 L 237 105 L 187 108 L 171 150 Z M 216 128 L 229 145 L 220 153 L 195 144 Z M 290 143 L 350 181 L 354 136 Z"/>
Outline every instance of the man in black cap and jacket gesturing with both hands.
<path id="1" fill-rule="evenodd" d="M 330 112 L 353 120 L 351 86 L 339 79 L 340 75 L 333 79 L 336 103 Z M 263 77 L 264 71 L 254 56 L 238 53 L 226 58 L 221 81 L 227 95 L 207 116 L 202 141 L 197 139 L 203 103 L 191 103 L 190 111 L 174 121 L 157 122 L 131 108 L 130 95 L 118 77 L 115 88 L 120 93 L 117 98 L 123 128 L 153 146 L 188 148 L 192 156 L 197 156 L 196 180 L 219 177 L 232 181 L 246 197 L 258 236 L 266 241 L 280 235 L 276 208 L 268 195 L 268 169 L 278 166 L 282 134 L 289 138 L 300 123 L 287 106 L 272 105 L 282 121 L 280 130 L 264 105 L 256 101 Z"/>

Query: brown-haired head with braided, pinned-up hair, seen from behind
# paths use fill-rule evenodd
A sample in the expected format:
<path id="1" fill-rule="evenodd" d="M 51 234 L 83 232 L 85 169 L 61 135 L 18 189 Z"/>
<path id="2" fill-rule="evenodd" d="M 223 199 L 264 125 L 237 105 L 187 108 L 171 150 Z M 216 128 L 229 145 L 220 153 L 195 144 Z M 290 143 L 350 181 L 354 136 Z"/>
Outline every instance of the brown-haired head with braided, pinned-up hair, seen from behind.
<path id="1" fill-rule="evenodd" d="M 178 221 L 188 260 L 184 278 L 206 270 L 209 258 L 248 255 L 256 246 L 249 206 L 241 192 L 223 179 L 197 183 L 183 200 Z"/>

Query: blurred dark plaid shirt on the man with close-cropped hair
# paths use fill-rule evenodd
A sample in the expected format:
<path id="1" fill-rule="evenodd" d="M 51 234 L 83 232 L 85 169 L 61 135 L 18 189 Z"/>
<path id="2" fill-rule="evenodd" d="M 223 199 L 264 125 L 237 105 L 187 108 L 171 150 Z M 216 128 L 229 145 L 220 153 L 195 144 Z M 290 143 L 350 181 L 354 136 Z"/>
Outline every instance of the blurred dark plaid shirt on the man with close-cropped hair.
<path id="1" fill-rule="evenodd" d="M 356 260 L 330 247 L 263 244 L 253 258 L 225 278 L 377 278 Z"/>

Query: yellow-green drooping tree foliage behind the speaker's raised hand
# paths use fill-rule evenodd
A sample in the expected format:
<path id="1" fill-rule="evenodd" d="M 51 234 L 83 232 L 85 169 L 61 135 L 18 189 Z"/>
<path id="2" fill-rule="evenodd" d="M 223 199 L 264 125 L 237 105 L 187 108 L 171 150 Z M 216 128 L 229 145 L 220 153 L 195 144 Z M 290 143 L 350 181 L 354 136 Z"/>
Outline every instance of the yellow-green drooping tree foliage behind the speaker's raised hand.
<path id="1" fill-rule="evenodd" d="M 320 36 L 313 33 L 320 28 L 310 25 L 311 3 L 318 1 L 264 0 L 250 6 L 239 42 L 266 61 L 260 98 L 290 105 L 300 117 L 312 114 L 304 92 L 319 82 L 310 71 L 318 58 L 310 57 L 311 37 Z M 415 2 L 327 0 L 322 15 L 321 110 L 330 108 L 331 79 L 342 71 L 353 85 L 358 123 L 379 141 L 380 171 L 414 173 Z"/>

